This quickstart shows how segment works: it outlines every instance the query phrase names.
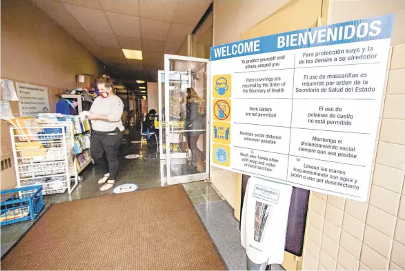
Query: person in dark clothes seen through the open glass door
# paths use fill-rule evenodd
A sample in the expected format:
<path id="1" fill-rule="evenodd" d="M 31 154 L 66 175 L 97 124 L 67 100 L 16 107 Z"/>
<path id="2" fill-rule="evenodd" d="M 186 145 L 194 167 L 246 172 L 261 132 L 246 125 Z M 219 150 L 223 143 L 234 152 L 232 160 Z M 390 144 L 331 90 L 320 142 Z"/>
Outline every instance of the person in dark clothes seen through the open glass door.
<path id="1" fill-rule="evenodd" d="M 197 171 L 198 159 L 206 161 L 204 153 L 197 147 L 197 141 L 201 134 L 204 134 L 206 129 L 204 123 L 206 117 L 206 105 L 204 99 L 201 99 L 194 88 L 187 88 L 187 103 L 186 103 L 186 117 L 184 121 L 184 130 L 186 132 L 188 148 L 191 150 L 191 162 L 188 167 L 189 172 Z"/>

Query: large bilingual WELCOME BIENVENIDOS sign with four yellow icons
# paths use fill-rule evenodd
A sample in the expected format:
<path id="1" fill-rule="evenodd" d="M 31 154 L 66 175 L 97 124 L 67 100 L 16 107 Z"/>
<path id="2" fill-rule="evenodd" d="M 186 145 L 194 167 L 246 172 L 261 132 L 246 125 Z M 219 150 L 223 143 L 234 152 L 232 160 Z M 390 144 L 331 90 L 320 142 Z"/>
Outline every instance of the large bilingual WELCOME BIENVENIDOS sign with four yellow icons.
<path id="1" fill-rule="evenodd" d="M 394 15 L 211 48 L 211 163 L 365 201 Z"/>

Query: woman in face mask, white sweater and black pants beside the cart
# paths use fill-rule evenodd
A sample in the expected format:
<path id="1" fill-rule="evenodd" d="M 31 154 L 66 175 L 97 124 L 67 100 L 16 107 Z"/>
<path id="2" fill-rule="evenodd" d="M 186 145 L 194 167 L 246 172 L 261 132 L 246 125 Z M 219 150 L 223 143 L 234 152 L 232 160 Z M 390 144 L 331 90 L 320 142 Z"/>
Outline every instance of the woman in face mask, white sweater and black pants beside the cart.
<path id="1" fill-rule="evenodd" d="M 106 174 L 99 179 L 99 184 L 105 183 L 100 190 L 109 190 L 114 186 L 117 177 L 119 159 L 118 150 L 121 143 L 124 126 L 121 117 L 124 103 L 115 95 L 112 80 L 108 75 L 103 75 L 98 83 L 100 96 L 95 99 L 87 118 L 92 123 L 92 136 L 90 151 L 95 163 L 99 162 L 106 154 Z"/>

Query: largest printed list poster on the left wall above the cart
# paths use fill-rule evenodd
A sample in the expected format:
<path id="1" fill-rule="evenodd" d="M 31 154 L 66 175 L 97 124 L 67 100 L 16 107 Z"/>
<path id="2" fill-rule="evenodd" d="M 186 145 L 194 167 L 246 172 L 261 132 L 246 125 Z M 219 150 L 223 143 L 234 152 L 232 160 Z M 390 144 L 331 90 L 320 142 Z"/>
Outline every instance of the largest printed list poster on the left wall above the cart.
<path id="1" fill-rule="evenodd" d="M 16 83 L 21 117 L 33 117 L 49 112 L 48 88 Z"/>

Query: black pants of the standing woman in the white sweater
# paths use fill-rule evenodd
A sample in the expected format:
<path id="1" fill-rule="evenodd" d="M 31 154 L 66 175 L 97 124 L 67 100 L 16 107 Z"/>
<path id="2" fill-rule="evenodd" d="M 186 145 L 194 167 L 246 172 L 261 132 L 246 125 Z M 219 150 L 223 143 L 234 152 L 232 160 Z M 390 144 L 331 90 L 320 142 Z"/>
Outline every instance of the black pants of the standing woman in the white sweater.
<path id="1" fill-rule="evenodd" d="M 92 131 L 90 152 L 95 163 L 99 163 L 106 154 L 106 173 L 110 173 L 108 179 L 115 180 L 119 168 L 118 150 L 122 139 L 122 132 L 117 128 L 112 132 Z"/>

